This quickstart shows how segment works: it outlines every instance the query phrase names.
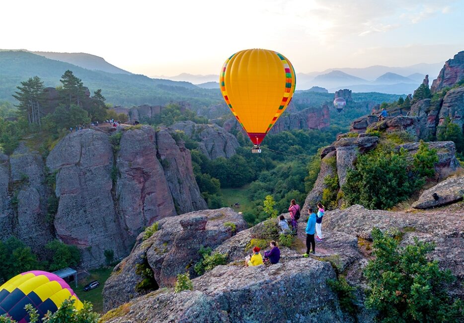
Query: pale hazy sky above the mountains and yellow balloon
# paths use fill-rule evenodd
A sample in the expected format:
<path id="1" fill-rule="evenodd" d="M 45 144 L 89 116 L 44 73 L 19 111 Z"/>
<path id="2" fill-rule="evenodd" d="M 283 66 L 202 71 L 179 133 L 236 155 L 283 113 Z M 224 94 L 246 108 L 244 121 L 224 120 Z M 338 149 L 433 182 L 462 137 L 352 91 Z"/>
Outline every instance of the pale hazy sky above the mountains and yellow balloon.
<path id="1" fill-rule="evenodd" d="M 297 73 L 443 62 L 464 50 L 464 0 L 0 2 L 0 48 L 85 52 L 148 76 L 218 74 L 247 48 Z"/>

